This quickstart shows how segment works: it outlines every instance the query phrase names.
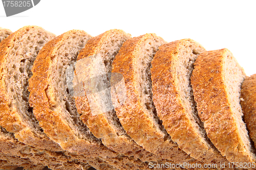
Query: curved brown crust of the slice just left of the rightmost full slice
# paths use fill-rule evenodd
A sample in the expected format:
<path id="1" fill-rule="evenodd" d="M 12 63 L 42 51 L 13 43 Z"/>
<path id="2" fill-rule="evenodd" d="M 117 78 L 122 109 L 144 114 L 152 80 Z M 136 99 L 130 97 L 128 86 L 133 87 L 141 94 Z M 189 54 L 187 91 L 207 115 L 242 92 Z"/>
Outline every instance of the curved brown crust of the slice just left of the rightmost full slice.
<path id="1" fill-rule="evenodd" d="M 219 152 L 216 153 L 200 134 L 182 102 L 177 67 L 179 57 L 182 55 L 180 51 L 190 45 L 204 52 L 204 48 L 191 39 L 177 40 L 159 47 L 151 69 L 154 105 L 159 118 L 163 121 L 163 126 L 179 144 L 179 148 L 204 163 L 218 162 L 218 165 L 220 163 L 227 165 L 228 161 L 225 157 Z"/>

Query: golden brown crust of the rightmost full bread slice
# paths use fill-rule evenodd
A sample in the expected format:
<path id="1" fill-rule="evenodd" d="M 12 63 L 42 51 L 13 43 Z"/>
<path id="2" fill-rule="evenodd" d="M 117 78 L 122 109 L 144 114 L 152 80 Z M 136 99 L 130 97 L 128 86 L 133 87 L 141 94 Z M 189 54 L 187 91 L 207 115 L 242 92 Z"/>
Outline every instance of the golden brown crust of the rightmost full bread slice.
<path id="1" fill-rule="evenodd" d="M 195 62 L 191 77 L 194 98 L 207 136 L 230 162 L 254 162 L 254 158 L 237 150 L 241 142 L 236 119 L 230 108 L 224 80 L 226 48 L 202 53 Z"/>

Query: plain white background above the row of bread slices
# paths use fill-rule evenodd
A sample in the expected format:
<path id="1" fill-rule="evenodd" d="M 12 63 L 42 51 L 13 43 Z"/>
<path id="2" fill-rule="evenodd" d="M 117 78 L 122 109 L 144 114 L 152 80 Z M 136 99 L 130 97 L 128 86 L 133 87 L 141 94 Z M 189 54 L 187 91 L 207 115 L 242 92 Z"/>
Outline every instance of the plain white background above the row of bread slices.
<path id="1" fill-rule="evenodd" d="M 0 27 L 12 31 L 37 25 L 56 35 L 80 29 L 97 36 L 122 29 L 132 36 L 156 33 L 168 42 L 191 38 L 206 50 L 228 48 L 248 76 L 256 74 L 255 18 L 256 1 L 41 0 L 10 17 L 0 3 Z"/>

